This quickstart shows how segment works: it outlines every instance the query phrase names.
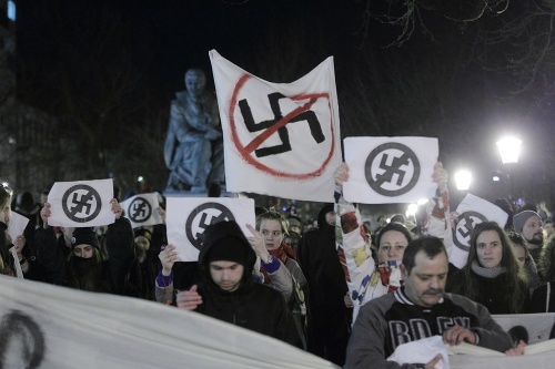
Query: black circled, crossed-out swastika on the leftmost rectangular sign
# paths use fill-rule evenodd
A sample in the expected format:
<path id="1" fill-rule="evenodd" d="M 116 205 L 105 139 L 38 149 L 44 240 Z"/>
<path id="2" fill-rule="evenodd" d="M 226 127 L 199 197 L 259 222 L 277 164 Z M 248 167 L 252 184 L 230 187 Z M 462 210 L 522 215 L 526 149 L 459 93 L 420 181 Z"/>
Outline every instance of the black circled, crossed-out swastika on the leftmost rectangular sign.
<path id="1" fill-rule="evenodd" d="M 71 221 L 87 223 L 100 214 L 102 202 L 97 189 L 89 185 L 78 184 L 63 194 L 62 208 Z"/>

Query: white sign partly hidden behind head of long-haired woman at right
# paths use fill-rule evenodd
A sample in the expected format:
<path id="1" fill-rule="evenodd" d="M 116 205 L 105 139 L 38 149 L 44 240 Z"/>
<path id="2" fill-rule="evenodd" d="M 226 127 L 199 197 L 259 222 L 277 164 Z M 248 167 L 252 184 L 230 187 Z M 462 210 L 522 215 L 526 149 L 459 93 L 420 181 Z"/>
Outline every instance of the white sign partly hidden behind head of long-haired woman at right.
<path id="1" fill-rule="evenodd" d="M 474 227 L 482 222 L 495 222 L 502 228 L 507 223 L 507 213 L 501 207 L 480 198 L 473 194 L 466 194 L 456 208 L 458 213 L 456 225 L 453 228 L 453 245 L 450 253 L 450 262 L 457 268 L 466 265 L 468 250 L 471 248 L 471 236 Z"/>

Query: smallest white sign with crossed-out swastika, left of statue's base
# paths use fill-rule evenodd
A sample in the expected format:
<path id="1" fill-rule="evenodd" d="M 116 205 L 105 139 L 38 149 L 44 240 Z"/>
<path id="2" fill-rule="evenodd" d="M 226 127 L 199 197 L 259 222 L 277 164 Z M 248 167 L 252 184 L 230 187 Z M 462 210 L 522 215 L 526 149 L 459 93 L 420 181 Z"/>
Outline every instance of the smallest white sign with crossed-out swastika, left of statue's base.
<path id="1" fill-rule="evenodd" d="M 133 228 L 162 224 L 163 219 L 158 209 L 158 194 L 140 194 L 121 202 L 125 217 Z"/>

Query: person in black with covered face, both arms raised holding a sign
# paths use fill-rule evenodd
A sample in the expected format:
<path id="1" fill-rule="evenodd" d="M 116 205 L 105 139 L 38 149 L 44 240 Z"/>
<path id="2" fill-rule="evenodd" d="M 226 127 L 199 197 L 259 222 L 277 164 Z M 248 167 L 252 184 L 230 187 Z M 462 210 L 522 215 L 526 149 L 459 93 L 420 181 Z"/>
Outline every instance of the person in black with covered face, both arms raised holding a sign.
<path id="1" fill-rule="evenodd" d="M 57 237 L 54 227 L 48 222 L 50 204 L 44 203 L 40 212 L 43 226 L 37 229 L 34 243 L 39 263 L 47 274 L 46 281 L 94 293 L 133 296 L 129 291 L 135 291 L 141 284 L 129 278 L 134 259 L 133 229 L 129 219 L 122 216 L 118 201 L 113 198 L 110 203 L 115 222 L 108 226 L 104 243 L 92 227 L 62 228 L 67 235 Z M 109 258 L 101 244 L 105 245 Z"/>

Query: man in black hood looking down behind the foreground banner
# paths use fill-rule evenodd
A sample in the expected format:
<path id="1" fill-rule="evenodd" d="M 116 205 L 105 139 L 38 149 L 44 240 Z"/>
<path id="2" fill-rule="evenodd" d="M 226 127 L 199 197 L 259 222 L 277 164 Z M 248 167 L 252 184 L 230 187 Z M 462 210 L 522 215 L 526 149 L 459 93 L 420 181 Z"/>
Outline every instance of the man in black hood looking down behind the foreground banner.
<path id="1" fill-rule="evenodd" d="M 239 225 L 206 227 L 196 263 L 175 263 L 175 245 L 160 253 L 157 300 L 243 327 L 301 347 L 283 296 L 253 277 L 256 255 Z M 180 291 L 173 299 L 175 289 Z"/>

